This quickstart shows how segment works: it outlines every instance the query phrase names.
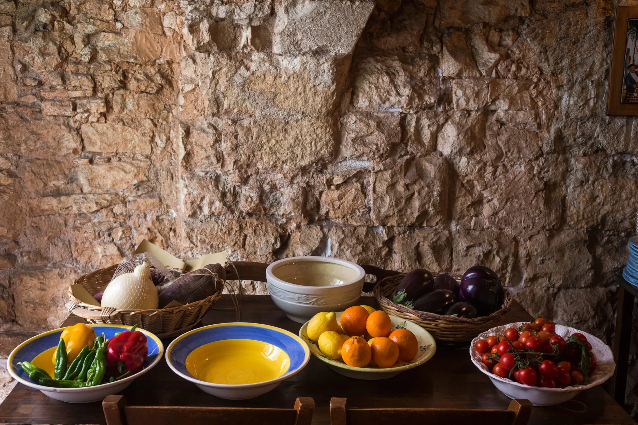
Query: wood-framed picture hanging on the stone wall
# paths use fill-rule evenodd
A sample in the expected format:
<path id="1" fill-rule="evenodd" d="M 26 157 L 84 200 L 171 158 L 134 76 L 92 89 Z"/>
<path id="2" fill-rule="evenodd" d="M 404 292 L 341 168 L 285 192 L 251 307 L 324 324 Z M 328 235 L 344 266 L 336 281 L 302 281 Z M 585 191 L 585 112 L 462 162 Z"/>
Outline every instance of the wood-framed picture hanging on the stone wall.
<path id="1" fill-rule="evenodd" d="M 617 6 L 607 115 L 638 115 L 638 6 Z"/>

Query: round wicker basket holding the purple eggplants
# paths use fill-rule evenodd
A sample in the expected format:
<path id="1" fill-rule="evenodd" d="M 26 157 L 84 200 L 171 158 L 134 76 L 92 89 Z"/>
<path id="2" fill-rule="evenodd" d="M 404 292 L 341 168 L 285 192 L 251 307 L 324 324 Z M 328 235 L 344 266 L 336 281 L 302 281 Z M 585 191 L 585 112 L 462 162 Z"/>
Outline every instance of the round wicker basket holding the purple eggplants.
<path id="1" fill-rule="evenodd" d="M 432 274 L 436 277 L 440 273 Z M 457 281 L 461 281 L 460 275 L 456 273 L 447 274 L 454 277 Z M 405 273 L 401 273 L 400 275 L 394 275 L 380 280 L 373 289 L 376 301 L 384 312 L 403 317 L 403 319 L 408 319 L 409 321 L 419 324 L 421 328 L 426 329 L 426 331 L 434 336 L 434 339 L 439 341 L 470 341 L 479 335 L 479 333 L 500 324 L 505 313 L 510 311 L 511 308 L 512 296 L 507 290 L 504 290 L 505 298 L 503 299 L 503 308 L 489 316 L 466 319 L 464 317 L 444 316 L 412 310 L 412 308 L 408 308 L 404 305 L 393 303 L 387 298 L 392 294 L 397 285 L 399 285 L 404 276 Z"/>

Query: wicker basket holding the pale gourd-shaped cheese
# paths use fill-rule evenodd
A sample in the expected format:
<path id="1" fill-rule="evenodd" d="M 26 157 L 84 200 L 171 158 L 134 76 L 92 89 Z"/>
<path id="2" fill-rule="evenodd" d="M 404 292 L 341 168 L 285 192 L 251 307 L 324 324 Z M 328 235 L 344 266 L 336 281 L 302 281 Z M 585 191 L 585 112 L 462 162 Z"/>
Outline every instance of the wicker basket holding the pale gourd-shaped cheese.
<path id="1" fill-rule="evenodd" d="M 84 286 L 91 295 L 97 294 L 111 281 L 115 269 L 117 269 L 117 264 L 93 271 L 78 278 L 75 284 Z M 71 287 L 69 287 L 69 301 L 66 303 L 66 308 L 89 323 L 115 323 L 126 326 L 137 324 L 140 328 L 154 333 L 159 338 L 166 338 L 181 335 L 193 328 L 219 298 L 221 298 L 221 289 L 207 298 L 187 305 L 153 310 L 117 310 L 113 307 L 100 307 L 83 303 L 73 296 Z"/>

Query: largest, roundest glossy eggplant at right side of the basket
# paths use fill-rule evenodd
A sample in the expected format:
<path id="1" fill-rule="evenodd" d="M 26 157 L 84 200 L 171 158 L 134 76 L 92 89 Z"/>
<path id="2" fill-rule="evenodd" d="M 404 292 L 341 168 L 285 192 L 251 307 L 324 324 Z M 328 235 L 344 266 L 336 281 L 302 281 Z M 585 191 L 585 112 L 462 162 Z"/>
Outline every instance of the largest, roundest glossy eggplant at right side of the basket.
<path id="1" fill-rule="evenodd" d="M 461 278 L 459 299 L 475 306 L 479 315 L 489 315 L 503 303 L 501 280 L 485 266 L 470 267 Z"/>

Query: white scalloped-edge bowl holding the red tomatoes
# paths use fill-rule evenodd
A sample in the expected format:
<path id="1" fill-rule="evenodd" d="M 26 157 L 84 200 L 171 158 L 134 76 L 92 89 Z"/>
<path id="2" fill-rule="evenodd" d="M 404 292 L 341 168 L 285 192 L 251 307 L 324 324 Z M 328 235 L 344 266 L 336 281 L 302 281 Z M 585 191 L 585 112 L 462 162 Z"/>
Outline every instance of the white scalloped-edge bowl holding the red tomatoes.
<path id="1" fill-rule="evenodd" d="M 487 338 L 487 336 L 490 335 L 504 335 L 505 329 L 519 328 L 519 326 L 525 323 L 527 322 L 516 322 L 503 326 L 496 326 L 496 328 L 489 329 L 488 331 L 485 331 L 474 338 L 470 345 L 470 357 L 472 359 L 472 363 L 474 363 L 480 371 L 485 373 L 492 380 L 492 383 L 496 385 L 496 388 L 498 388 L 501 393 L 505 394 L 509 398 L 526 398 L 527 400 L 530 400 L 531 403 L 535 406 L 559 405 L 560 403 L 563 403 L 567 400 L 571 400 L 585 389 L 592 388 L 604 383 L 614 374 L 614 369 L 616 368 L 616 363 L 614 363 L 614 356 L 611 352 L 611 349 L 607 347 L 604 342 L 586 332 L 557 324 L 556 333 L 565 338 L 565 340 L 567 340 L 567 338 L 572 334 L 579 332 L 582 333 L 582 335 L 586 336 L 587 340 L 591 343 L 591 351 L 596 357 L 597 366 L 594 370 L 593 375 L 591 375 L 590 377 L 589 384 L 570 385 L 569 387 L 565 388 L 541 388 L 519 384 L 519 382 L 510 380 L 509 378 L 497 377 L 496 375 L 491 373 L 486 364 L 482 362 L 482 354 L 479 354 L 479 352 L 477 352 L 477 350 L 475 349 L 477 341 L 484 340 Z"/>

